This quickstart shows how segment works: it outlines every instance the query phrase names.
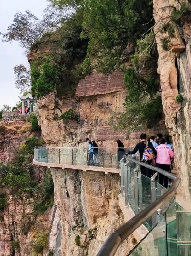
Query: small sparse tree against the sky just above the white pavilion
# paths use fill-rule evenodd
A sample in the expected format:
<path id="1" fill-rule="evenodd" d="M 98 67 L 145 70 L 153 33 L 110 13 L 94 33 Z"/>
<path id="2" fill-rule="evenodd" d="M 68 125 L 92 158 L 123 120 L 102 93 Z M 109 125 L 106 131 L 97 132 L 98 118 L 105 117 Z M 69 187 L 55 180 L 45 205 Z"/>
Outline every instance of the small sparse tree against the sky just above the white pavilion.
<path id="1" fill-rule="evenodd" d="M 14 67 L 15 87 L 20 92 L 26 92 L 31 89 L 31 69 L 20 64 Z"/>

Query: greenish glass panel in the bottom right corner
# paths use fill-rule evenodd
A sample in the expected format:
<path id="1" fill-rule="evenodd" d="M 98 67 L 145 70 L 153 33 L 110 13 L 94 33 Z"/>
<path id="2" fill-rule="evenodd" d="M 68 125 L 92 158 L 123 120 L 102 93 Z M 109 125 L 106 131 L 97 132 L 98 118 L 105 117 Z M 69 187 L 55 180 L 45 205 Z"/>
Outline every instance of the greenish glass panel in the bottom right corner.
<path id="1" fill-rule="evenodd" d="M 177 211 L 178 255 L 191 255 L 191 212 Z"/>

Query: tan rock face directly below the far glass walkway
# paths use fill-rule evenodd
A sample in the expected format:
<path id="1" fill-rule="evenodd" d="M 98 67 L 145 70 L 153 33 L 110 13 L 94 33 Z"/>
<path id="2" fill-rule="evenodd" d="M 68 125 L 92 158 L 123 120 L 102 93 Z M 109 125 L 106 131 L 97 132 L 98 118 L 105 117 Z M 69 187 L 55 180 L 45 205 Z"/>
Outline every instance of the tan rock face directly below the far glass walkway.
<path id="1" fill-rule="evenodd" d="M 51 173 L 62 223 L 61 255 L 96 255 L 110 232 L 124 222 L 118 206 L 119 175 L 55 168 Z M 120 245 L 116 255 L 128 254 L 132 238 Z"/>

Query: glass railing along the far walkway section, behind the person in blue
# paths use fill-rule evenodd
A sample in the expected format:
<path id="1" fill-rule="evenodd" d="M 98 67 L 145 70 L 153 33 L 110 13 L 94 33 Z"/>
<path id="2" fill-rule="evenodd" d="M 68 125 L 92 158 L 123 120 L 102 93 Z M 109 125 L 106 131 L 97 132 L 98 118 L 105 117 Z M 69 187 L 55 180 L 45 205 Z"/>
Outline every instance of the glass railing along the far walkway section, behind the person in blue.
<path id="1" fill-rule="evenodd" d="M 126 153 L 132 148 L 125 148 Z M 123 155 L 123 153 L 122 153 Z M 120 169 L 118 148 L 97 148 L 89 154 L 86 147 L 35 147 L 34 159 L 38 162 L 61 165 L 91 165 Z"/>

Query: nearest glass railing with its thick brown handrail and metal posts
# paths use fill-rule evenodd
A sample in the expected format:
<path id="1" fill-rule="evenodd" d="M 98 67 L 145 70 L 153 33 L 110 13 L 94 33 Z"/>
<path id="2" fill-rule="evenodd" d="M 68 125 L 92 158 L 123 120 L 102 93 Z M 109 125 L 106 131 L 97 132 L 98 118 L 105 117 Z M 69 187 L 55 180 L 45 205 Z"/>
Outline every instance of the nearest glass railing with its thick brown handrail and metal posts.
<path id="1" fill-rule="evenodd" d="M 191 230 L 191 224 L 189 224 L 189 218 L 187 219 L 189 214 L 180 210 L 181 207 L 177 203 L 176 209 L 174 209 L 175 203 L 172 199 L 176 193 L 180 178 L 155 166 L 139 162 L 137 158 L 137 155 L 124 155 L 120 161 L 120 196 L 125 197 L 126 209 L 130 206 L 135 216 L 109 235 L 97 256 L 115 255 L 120 243 L 142 224 L 145 225 L 145 230 L 148 233 L 129 255 L 190 256 L 191 244 L 189 241 L 191 239 L 189 238 L 189 231 Z M 150 170 L 151 178 L 141 174 L 140 166 Z M 159 173 L 171 179 L 172 183 L 169 185 L 169 190 L 158 183 Z M 177 210 L 177 207 L 179 210 Z M 179 217 L 179 212 L 181 217 Z M 181 223 L 181 218 L 186 220 L 187 233 L 186 225 L 182 225 L 180 231 L 178 223 Z M 184 232 L 184 235 L 182 232 Z"/>

